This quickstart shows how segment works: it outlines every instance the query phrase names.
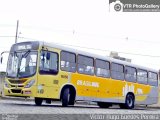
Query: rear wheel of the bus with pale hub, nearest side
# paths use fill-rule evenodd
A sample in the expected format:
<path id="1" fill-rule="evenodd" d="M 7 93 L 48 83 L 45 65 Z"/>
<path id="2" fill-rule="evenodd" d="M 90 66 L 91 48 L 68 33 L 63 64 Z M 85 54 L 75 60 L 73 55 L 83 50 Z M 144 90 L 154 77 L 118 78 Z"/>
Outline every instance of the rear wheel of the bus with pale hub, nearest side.
<path id="1" fill-rule="evenodd" d="M 125 101 L 125 108 L 127 109 L 134 108 L 134 96 L 132 94 L 127 94 Z"/>

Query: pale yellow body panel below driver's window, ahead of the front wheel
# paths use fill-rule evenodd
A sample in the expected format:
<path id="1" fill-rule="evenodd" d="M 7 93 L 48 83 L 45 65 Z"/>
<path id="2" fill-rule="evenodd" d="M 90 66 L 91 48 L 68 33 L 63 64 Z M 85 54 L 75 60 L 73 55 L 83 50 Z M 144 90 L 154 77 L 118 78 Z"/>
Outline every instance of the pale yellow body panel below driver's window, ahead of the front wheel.
<path id="1" fill-rule="evenodd" d="M 63 85 L 68 83 L 68 72 L 61 71 L 58 75 L 39 75 L 38 97 L 59 99 Z"/>

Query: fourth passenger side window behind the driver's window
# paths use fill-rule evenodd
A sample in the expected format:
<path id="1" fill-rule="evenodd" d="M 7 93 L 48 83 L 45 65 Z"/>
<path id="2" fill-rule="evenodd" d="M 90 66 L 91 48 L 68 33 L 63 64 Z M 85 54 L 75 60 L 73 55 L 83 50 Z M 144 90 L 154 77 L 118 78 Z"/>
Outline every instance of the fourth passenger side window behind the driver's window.
<path id="1" fill-rule="evenodd" d="M 113 79 L 124 80 L 124 67 L 121 64 L 111 64 L 111 77 Z"/>

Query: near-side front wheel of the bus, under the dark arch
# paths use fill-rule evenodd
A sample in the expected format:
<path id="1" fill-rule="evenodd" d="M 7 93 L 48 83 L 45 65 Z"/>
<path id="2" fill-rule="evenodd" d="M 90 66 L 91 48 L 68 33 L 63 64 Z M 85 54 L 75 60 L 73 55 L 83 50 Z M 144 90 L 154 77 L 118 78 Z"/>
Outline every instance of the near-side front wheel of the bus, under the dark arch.
<path id="1" fill-rule="evenodd" d="M 67 107 L 69 105 L 70 100 L 70 93 L 69 88 L 64 89 L 63 95 L 62 95 L 62 106 Z"/>

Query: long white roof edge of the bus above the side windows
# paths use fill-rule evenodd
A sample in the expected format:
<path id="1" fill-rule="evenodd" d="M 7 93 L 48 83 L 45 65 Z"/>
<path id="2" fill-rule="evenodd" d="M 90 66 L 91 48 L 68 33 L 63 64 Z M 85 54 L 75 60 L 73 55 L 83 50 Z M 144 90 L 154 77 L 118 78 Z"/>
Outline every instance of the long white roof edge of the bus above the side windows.
<path id="1" fill-rule="evenodd" d="M 35 42 L 35 43 L 38 42 L 40 46 L 53 47 L 53 48 L 68 51 L 68 52 L 71 52 L 71 53 L 81 54 L 81 55 L 88 56 L 88 57 L 93 57 L 93 58 L 97 58 L 97 59 L 101 59 L 101 60 L 106 60 L 106 61 L 109 61 L 109 62 L 123 64 L 123 65 L 126 65 L 126 66 L 135 67 L 135 68 L 138 68 L 138 69 L 144 69 L 144 70 L 152 71 L 152 72 L 156 72 L 156 73 L 159 72 L 156 69 L 152 69 L 152 68 L 148 68 L 148 67 L 144 67 L 144 66 L 140 66 L 140 65 L 135 65 L 133 63 L 118 60 L 118 59 L 114 59 L 114 58 L 109 57 L 109 56 L 102 56 L 102 55 L 93 54 L 93 53 L 89 53 L 89 52 L 82 51 L 82 50 L 77 50 L 75 48 L 67 47 L 67 45 L 60 45 L 60 44 L 57 44 L 57 43 L 47 43 L 47 42 L 43 42 L 43 41 L 28 41 L 28 42 Z"/>

